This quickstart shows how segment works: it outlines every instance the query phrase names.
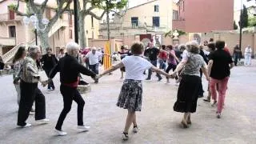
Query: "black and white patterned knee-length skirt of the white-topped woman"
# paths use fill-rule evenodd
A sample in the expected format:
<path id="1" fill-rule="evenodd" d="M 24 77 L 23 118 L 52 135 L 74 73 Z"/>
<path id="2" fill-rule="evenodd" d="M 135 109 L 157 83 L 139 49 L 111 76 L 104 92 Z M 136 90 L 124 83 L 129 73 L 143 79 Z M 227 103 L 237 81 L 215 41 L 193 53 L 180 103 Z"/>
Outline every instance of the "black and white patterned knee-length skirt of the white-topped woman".
<path id="1" fill-rule="evenodd" d="M 142 81 L 126 79 L 122 84 L 117 106 L 131 111 L 141 111 Z"/>

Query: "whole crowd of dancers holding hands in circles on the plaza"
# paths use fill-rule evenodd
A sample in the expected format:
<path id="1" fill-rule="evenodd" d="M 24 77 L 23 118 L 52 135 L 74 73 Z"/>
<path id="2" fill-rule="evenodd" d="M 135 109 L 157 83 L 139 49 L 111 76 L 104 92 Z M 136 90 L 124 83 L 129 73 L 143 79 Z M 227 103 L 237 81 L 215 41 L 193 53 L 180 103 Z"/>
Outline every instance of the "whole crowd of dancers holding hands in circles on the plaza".
<path id="1" fill-rule="evenodd" d="M 133 125 L 133 132 L 138 132 L 136 112 L 142 110 L 142 81 L 151 80 L 153 72 L 158 81 L 162 76 L 166 83 L 175 79 L 178 85 L 177 101 L 173 109 L 183 113 L 181 125 L 190 127 L 191 114 L 197 110 L 198 98 L 203 97 L 202 78 L 208 81 L 208 96 L 205 102 L 213 99 L 212 106 L 217 106 L 216 116 L 221 118 L 225 103 L 227 84 L 230 78 L 230 69 L 234 66 L 233 58 L 228 50 L 225 50 L 225 42 L 217 41 L 198 44 L 196 41 L 183 45 L 162 45 L 155 47 L 152 42 L 145 46 L 141 42 L 134 42 L 130 47 L 122 46 L 118 51 L 121 61 L 109 70 L 100 73 L 99 66 L 104 54 L 100 48 L 80 50 L 75 42 L 69 42 L 60 50 L 56 57 L 50 48 L 42 55 L 38 46 L 30 46 L 26 52 L 25 47 L 20 47 L 14 56 L 14 86 L 18 94 L 18 122 L 19 127 L 31 126 L 26 120 L 35 103 L 34 118 L 36 122 L 49 122 L 46 118 L 46 100 L 44 94 L 38 88 L 38 83 L 48 86 L 48 90 L 55 90 L 53 78 L 60 73 L 60 92 L 63 98 L 63 109 L 55 126 L 55 132 L 60 135 L 67 133 L 62 130 L 66 115 L 70 112 L 72 102 L 78 104 L 78 129 L 88 131 L 90 126 L 83 123 L 83 109 L 85 101 L 78 91 L 81 82 L 81 74 L 90 76 L 95 83 L 98 79 L 114 70 L 121 70 L 124 78 L 117 106 L 127 110 L 125 127 L 122 139 L 128 140 L 129 129 Z M 250 51 L 250 50 L 247 50 Z M 158 67 L 159 64 L 159 67 Z M 42 80 L 40 69 L 46 72 L 48 79 Z M 172 70 L 172 73 L 170 73 Z M 124 75 L 125 73 L 125 75 Z M 204 77 L 202 77 L 204 74 Z"/>

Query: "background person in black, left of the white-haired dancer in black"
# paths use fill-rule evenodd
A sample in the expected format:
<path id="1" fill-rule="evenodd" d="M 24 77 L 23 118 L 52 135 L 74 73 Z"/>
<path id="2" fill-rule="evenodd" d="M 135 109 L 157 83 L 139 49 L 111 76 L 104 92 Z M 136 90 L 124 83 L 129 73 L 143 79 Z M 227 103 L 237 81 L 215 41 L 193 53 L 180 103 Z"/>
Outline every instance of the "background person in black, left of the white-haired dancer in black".
<path id="1" fill-rule="evenodd" d="M 47 77 L 49 78 L 50 70 L 58 63 L 58 59 L 52 54 L 52 49 L 50 47 L 46 48 L 47 54 L 42 55 L 42 69 L 45 70 Z M 55 90 L 54 82 L 48 83 L 48 90 Z"/>

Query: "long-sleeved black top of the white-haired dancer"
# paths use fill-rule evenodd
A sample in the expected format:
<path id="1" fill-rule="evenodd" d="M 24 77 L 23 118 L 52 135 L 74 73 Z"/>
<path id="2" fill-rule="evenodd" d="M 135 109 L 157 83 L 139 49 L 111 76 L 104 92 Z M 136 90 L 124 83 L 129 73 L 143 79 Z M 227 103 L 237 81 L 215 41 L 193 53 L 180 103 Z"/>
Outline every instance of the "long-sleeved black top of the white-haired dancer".
<path id="1" fill-rule="evenodd" d="M 58 72 L 60 72 L 61 83 L 72 83 L 78 81 L 79 73 L 91 76 L 92 78 L 96 76 L 93 71 L 82 66 L 82 64 L 78 62 L 77 58 L 68 54 L 63 58 L 60 58 L 58 64 L 50 71 L 49 78 L 54 78 Z"/>

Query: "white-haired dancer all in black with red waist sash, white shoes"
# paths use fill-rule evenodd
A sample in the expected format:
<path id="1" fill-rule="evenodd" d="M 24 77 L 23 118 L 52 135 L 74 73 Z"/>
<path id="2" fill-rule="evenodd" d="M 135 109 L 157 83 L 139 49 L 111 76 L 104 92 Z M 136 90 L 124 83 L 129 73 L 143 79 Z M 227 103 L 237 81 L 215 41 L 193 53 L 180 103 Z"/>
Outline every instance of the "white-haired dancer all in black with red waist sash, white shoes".
<path id="1" fill-rule="evenodd" d="M 77 87 L 79 82 L 79 74 L 86 74 L 94 80 L 96 80 L 96 74 L 93 71 L 88 70 L 85 66 L 82 66 L 78 62 L 78 53 L 80 47 L 75 42 L 69 42 L 66 45 L 66 56 L 61 58 L 54 69 L 51 70 L 49 76 L 49 82 L 52 78 L 54 78 L 57 72 L 60 72 L 60 81 L 61 81 L 61 93 L 64 102 L 64 108 L 62 113 L 58 118 L 57 125 L 55 126 L 55 131 L 58 135 L 63 136 L 67 133 L 62 131 L 62 124 L 66 118 L 66 114 L 68 114 L 71 110 L 72 101 L 78 103 L 78 129 L 88 131 L 90 126 L 83 125 L 83 107 L 85 105 L 85 101 L 82 99 L 81 94 L 79 94 Z"/>

